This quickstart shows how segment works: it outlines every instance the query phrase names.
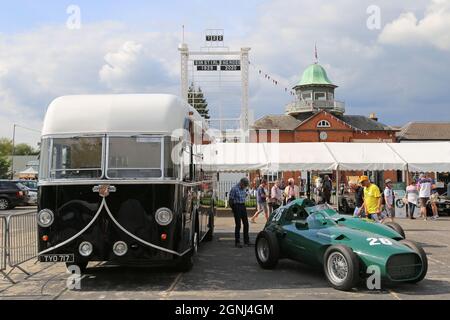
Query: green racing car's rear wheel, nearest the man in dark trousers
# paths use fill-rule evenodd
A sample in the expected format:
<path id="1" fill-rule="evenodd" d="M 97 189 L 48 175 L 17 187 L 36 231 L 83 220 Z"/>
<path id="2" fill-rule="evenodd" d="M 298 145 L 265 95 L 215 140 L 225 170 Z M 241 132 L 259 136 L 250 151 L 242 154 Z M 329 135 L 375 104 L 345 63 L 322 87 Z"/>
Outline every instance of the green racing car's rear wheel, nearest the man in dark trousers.
<path id="1" fill-rule="evenodd" d="M 280 258 L 280 246 L 273 232 L 261 231 L 256 237 L 256 260 L 263 269 L 274 269 Z"/>

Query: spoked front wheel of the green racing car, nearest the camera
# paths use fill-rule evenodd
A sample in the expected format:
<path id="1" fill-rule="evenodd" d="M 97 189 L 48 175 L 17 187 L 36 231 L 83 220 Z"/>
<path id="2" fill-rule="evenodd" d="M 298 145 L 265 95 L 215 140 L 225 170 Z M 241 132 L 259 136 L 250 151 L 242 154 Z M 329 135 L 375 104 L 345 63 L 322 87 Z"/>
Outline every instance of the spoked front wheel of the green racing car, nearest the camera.
<path id="1" fill-rule="evenodd" d="M 346 246 L 331 246 L 325 251 L 324 270 L 328 282 L 337 290 L 348 291 L 360 280 L 358 257 Z"/>

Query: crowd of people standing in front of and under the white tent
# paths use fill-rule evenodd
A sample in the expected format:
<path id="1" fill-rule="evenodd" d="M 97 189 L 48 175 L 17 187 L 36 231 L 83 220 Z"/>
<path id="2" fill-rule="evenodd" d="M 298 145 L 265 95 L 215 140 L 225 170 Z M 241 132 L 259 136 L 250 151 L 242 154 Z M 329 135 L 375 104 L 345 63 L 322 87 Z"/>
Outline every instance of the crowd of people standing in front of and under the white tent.
<path id="1" fill-rule="evenodd" d="M 246 198 L 250 181 L 248 178 L 242 178 L 229 193 L 229 203 L 234 214 L 236 223 L 235 244 L 242 248 L 240 242 L 241 226 L 244 227 L 244 245 L 250 246 L 249 239 L 249 220 L 247 209 L 245 207 Z M 273 186 L 268 188 L 267 180 L 256 178 L 253 189 L 256 196 L 257 210 L 250 218 L 252 223 L 260 214 L 264 214 L 266 221 L 273 210 L 291 201 L 300 198 L 300 188 L 295 184 L 294 179 L 290 178 L 287 185 L 283 180 L 276 180 Z M 350 181 L 349 187 L 355 194 L 354 216 L 361 218 L 370 218 L 376 222 L 383 223 L 386 219 L 394 221 L 395 219 L 395 194 L 393 182 L 390 179 L 384 181 L 384 190 L 372 183 L 368 176 L 361 176 L 358 182 Z M 329 203 L 332 193 L 332 181 L 328 175 L 324 177 L 320 188 L 320 198 L 322 203 Z M 406 205 L 406 214 L 409 219 L 416 219 L 414 212 L 420 208 L 420 219 L 427 220 L 427 206 L 430 205 L 433 216 L 432 220 L 439 218 L 438 214 L 438 193 L 433 179 L 425 173 L 421 173 L 419 179 L 412 180 L 406 187 L 406 195 L 401 199 Z"/>

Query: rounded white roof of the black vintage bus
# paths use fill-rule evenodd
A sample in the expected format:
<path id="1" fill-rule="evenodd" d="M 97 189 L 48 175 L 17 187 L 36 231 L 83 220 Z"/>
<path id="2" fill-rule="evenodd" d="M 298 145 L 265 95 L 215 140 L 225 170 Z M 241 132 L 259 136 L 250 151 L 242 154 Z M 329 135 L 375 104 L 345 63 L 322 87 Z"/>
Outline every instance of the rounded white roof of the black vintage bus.
<path id="1" fill-rule="evenodd" d="M 190 116 L 190 113 L 192 114 Z M 168 134 L 185 119 L 205 121 L 187 102 L 169 94 L 77 95 L 48 107 L 42 136 L 79 134 Z"/>

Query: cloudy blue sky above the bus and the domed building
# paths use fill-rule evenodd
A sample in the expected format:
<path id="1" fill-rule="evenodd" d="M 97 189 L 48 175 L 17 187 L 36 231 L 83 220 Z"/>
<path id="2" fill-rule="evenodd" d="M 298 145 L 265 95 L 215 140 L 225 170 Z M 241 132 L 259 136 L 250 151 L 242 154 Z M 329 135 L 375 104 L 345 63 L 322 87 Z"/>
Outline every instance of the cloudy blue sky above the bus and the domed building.
<path id="1" fill-rule="evenodd" d="M 37 143 L 39 133 L 22 127 L 39 130 L 61 95 L 179 95 L 182 25 L 192 50 L 210 28 L 224 29 L 232 49 L 251 47 L 255 118 L 284 112 L 292 101 L 284 88 L 314 62 L 317 44 L 347 114 L 375 112 L 394 126 L 450 121 L 450 0 L 0 0 L 0 8 L 0 137 L 18 124 L 19 142 Z M 239 116 L 238 94 L 204 92 L 213 117 Z"/>

